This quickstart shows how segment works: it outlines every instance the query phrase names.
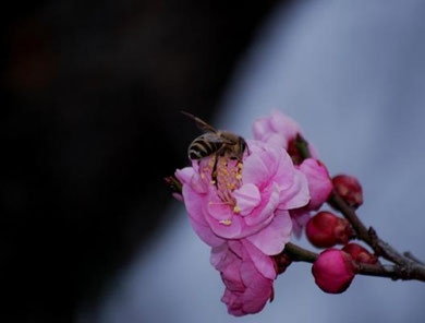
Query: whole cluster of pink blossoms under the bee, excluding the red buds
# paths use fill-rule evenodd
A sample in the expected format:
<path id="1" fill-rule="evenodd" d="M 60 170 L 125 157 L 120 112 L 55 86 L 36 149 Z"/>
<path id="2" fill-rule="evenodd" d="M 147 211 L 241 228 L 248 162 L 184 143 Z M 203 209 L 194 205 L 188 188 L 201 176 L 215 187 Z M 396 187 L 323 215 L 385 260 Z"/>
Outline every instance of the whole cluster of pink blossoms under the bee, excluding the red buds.
<path id="1" fill-rule="evenodd" d="M 175 172 L 191 225 L 212 248 L 210 262 L 226 286 L 221 300 L 233 315 L 256 313 L 272 298 L 274 256 L 332 189 L 316 158 L 294 165 L 287 149 L 301 129 L 293 120 L 276 111 L 253 131 L 242 160 L 218 157 L 215 166 L 212 155 Z"/>

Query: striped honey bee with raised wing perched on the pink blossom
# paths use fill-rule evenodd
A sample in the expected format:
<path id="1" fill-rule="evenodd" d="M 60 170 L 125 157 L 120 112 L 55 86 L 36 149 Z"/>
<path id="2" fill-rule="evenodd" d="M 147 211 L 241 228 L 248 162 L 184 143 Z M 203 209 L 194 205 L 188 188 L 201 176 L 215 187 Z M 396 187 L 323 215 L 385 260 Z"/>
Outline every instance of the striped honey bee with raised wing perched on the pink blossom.
<path id="1" fill-rule="evenodd" d="M 246 141 L 242 136 L 230 131 L 216 130 L 202 119 L 185 111 L 181 112 L 194 120 L 196 125 L 205 131 L 189 145 L 187 155 L 191 160 L 215 156 L 212 176 L 216 172 L 219 157 L 242 162 L 243 154 L 247 148 Z"/>

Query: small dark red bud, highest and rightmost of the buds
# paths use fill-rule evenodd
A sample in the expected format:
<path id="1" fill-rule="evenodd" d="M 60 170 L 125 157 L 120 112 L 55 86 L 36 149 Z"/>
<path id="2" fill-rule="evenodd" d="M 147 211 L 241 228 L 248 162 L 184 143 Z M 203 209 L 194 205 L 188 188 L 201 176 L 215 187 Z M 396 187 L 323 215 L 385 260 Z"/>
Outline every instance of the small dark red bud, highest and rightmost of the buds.
<path id="1" fill-rule="evenodd" d="M 332 178 L 335 191 L 354 208 L 363 204 L 362 186 L 356 178 L 348 175 L 338 175 Z"/>

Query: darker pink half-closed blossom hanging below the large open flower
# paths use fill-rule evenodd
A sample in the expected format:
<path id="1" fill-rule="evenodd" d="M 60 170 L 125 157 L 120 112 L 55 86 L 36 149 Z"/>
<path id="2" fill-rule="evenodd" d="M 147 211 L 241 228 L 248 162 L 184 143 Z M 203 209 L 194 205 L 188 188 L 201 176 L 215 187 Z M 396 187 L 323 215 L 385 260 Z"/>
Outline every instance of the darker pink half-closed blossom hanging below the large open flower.
<path id="1" fill-rule="evenodd" d="M 230 240 L 211 251 L 211 264 L 220 272 L 226 285 L 221 301 L 227 304 L 229 313 L 235 316 L 257 313 L 272 298 L 272 282 L 276 278 L 274 261 L 255 249 L 244 239 Z M 270 272 L 271 276 L 265 276 L 258 270 L 260 262 L 254 262 L 252 258 L 255 253 L 262 259 L 263 272 L 268 267 L 266 272 Z"/>

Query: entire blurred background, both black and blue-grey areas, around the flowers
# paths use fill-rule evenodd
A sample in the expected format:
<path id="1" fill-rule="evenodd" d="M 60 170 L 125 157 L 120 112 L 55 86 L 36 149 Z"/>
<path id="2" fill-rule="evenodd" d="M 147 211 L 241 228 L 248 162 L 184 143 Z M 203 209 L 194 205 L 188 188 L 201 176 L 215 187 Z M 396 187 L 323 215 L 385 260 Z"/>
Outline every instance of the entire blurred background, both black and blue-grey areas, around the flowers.
<path id="1" fill-rule="evenodd" d="M 294 264 L 229 316 L 209 250 L 162 177 L 197 131 L 280 109 L 360 214 L 425 259 L 422 1 L 38 1 L 3 11 L 2 322 L 424 322 L 425 286 L 321 292 Z M 307 246 L 302 239 L 301 244 Z"/>

